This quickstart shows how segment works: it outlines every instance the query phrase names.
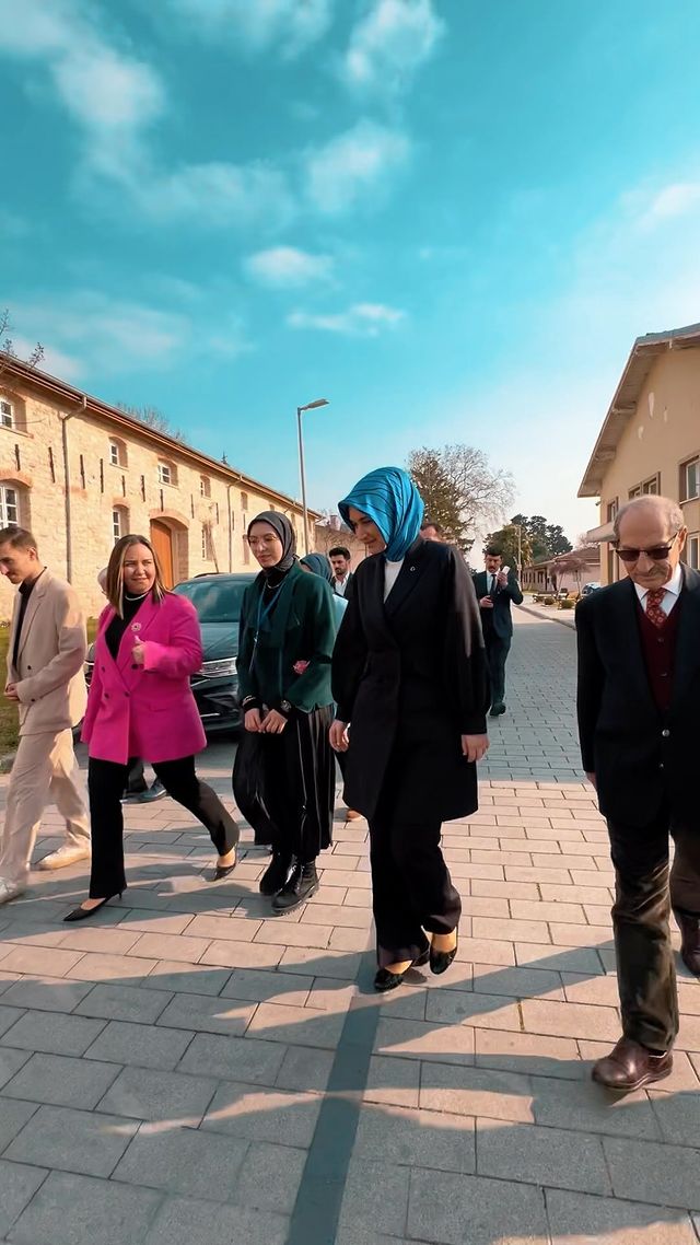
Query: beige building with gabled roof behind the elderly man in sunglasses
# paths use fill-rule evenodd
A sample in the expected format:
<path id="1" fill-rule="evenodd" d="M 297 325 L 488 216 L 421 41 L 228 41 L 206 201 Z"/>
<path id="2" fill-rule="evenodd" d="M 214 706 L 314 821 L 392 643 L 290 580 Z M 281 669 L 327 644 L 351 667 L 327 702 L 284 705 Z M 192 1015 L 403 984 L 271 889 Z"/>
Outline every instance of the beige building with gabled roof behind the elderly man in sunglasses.
<path id="1" fill-rule="evenodd" d="M 631 347 L 605 416 L 579 497 L 600 499 L 600 581 L 620 579 L 610 544 L 624 502 L 644 493 L 673 497 L 689 532 L 685 561 L 700 565 L 700 324 L 650 332 Z"/>

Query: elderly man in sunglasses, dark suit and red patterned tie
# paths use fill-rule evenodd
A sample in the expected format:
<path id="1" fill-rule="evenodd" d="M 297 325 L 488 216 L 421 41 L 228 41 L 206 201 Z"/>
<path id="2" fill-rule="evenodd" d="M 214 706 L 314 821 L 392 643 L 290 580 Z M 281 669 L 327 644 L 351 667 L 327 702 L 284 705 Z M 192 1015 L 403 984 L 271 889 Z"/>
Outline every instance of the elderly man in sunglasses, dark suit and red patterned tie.
<path id="1" fill-rule="evenodd" d="M 610 834 L 623 1017 L 593 1079 L 625 1092 L 671 1071 L 671 909 L 700 976 L 700 574 L 680 561 L 685 537 L 675 502 L 628 503 L 614 529 L 627 578 L 577 606 L 580 747 Z"/>

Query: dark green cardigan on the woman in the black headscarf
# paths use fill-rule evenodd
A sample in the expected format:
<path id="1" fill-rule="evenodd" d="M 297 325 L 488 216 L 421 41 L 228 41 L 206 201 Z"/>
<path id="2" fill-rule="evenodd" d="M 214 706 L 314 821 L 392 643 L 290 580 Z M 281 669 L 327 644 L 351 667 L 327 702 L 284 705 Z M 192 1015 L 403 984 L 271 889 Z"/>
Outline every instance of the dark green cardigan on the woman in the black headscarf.
<path id="1" fill-rule="evenodd" d="M 268 708 L 289 701 L 301 713 L 331 705 L 330 659 L 336 627 L 330 585 L 295 563 L 255 645 L 260 596 L 264 609 L 272 595 L 264 585 L 264 575 L 258 575 L 243 598 L 238 644 L 242 701 L 254 696 Z M 301 675 L 294 671 L 298 661 L 309 662 Z"/>

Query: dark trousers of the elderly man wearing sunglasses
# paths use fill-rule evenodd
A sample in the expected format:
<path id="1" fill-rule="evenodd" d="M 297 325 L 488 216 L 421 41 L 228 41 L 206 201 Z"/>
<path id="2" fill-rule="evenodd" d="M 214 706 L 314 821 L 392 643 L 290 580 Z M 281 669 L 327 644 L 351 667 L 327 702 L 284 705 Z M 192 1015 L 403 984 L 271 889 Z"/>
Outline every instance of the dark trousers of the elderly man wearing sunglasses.
<path id="1" fill-rule="evenodd" d="M 608 822 L 608 832 L 623 1031 L 643 1046 L 668 1051 L 678 1033 L 669 919 L 671 909 L 700 916 L 700 827 L 676 824 L 664 807 L 648 825 Z M 675 843 L 670 876 L 669 834 Z"/>

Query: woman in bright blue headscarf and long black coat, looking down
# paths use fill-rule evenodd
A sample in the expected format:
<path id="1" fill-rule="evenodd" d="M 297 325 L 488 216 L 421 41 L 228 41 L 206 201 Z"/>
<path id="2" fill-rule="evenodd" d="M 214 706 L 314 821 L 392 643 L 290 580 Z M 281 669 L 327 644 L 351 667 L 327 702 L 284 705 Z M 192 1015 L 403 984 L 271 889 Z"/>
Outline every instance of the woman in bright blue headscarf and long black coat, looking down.
<path id="1" fill-rule="evenodd" d="M 478 806 L 488 676 L 462 554 L 420 535 L 423 504 L 400 467 L 370 472 L 339 504 L 369 557 L 333 655 L 331 743 L 346 752 L 345 802 L 370 825 L 377 990 L 457 951 L 461 900 L 442 822 Z M 430 937 L 428 937 L 430 935 Z"/>

